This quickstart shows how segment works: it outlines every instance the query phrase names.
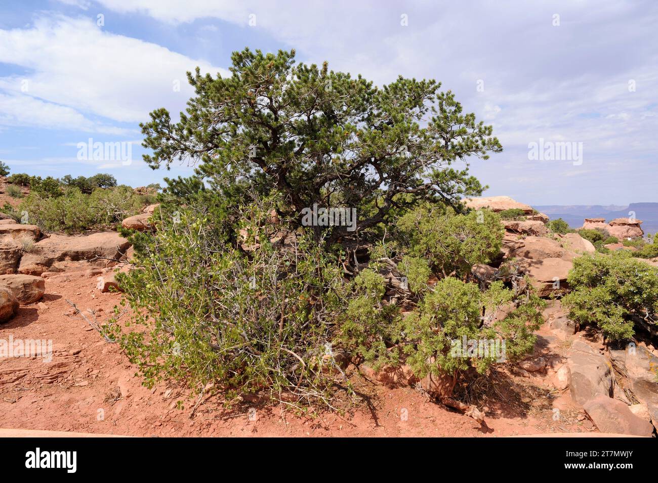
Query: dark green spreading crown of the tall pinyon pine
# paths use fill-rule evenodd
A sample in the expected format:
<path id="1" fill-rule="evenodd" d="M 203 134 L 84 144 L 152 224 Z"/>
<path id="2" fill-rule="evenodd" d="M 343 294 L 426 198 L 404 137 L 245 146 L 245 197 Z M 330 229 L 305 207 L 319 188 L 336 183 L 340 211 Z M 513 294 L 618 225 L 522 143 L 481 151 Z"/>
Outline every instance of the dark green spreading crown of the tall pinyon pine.
<path id="1" fill-rule="evenodd" d="M 295 64 L 294 51 L 249 49 L 232 55 L 230 71 L 226 78 L 188 73 L 195 97 L 180 122 L 164 108 L 151 112 L 141 125 L 153 150 L 145 162 L 199 161 L 197 175 L 211 188 L 240 185 L 245 202 L 278 193 L 285 202 L 277 209 L 294 227 L 314 204 L 355 208 L 356 233 L 315 227 L 328 247 L 364 239 L 421 201 L 480 195 L 478 180 L 453 164 L 502 150 L 492 127 L 463 113 L 434 80 L 399 77 L 380 88 L 326 63 Z"/>

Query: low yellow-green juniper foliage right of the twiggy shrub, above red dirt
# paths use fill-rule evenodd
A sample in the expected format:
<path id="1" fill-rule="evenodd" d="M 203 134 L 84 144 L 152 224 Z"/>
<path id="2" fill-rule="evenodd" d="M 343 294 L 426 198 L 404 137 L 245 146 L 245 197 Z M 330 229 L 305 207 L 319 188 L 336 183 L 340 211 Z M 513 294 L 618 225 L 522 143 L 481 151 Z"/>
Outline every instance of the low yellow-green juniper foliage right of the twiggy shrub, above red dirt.
<path id="1" fill-rule="evenodd" d="M 374 282 L 375 276 L 368 273 L 367 279 Z M 383 317 L 374 317 L 368 308 L 372 302 L 361 297 L 350 303 L 342 316 L 342 331 L 351 338 L 343 342 L 347 346 L 357 345 L 359 354 L 375 368 L 399 365 L 405 360 L 417 377 L 428 373 L 454 374 L 470 366 L 484 373 L 493 363 L 519 359 L 534 347 L 536 336 L 532 332 L 542 324 L 541 311 L 545 306 L 534 295 L 516 298 L 499 281 L 492 283 L 486 292 L 480 292 L 477 285 L 453 277 L 439 281 L 418 308 L 403 319 L 393 317 L 390 309 L 388 313 L 378 314 Z M 510 304 L 509 313 L 494 321 L 499 310 Z M 359 309 L 355 310 L 355 306 Z M 486 341 L 492 350 L 485 351 L 480 346 L 469 354 L 463 338 Z M 496 340 L 498 351 L 493 350 Z M 392 349 L 387 349 L 388 346 Z"/>

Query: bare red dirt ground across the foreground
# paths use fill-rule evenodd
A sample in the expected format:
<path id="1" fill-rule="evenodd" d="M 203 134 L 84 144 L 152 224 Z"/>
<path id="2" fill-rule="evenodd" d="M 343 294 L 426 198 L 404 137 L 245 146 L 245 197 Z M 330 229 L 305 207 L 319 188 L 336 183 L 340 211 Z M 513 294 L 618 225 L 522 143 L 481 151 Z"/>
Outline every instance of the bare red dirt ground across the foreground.
<path id="1" fill-rule="evenodd" d="M 0 359 L 0 428 L 130 436 L 513 436 L 588 430 L 576 417 L 553 421 L 551 402 L 535 401 L 527 393 L 513 395 L 517 403 L 489 403 L 486 425 L 480 425 L 418 390 L 386 388 L 359 375 L 353 382 L 370 394 L 369 403 L 345 415 L 322 411 L 304 417 L 272 405 L 227 410 L 209 396 L 191 419 L 196 398 L 177 386 L 141 386 L 118 346 L 105 342 L 71 310 L 66 299 L 80 310 L 95 310 L 101 323 L 113 315 L 120 294 L 101 293 L 95 283 L 84 271 L 51 277 L 40 304 L 21 307 L 14 319 L 0 325 L 0 339 L 51 339 L 54 351 L 50 363 L 39 357 Z M 530 387 L 528 379 L 514 382 Z M 255 420 L 248 416 L 251 407 L 257 410 Z"/>

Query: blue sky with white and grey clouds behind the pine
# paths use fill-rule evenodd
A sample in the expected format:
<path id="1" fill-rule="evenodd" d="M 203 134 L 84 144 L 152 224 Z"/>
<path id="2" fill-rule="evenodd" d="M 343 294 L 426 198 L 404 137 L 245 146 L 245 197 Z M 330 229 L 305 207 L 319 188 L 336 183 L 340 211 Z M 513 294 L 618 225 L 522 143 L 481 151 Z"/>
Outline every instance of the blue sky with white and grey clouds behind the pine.
<path id="1" fill-rule="evenodd" d="M 0 160 L 133 186 L 191 173 L 147 168 L 139 122 L 184 109 L 195 66 L 224 74 L 245 46 L 295 48 L 378 85 L 402 74 L 454 91 L 503 144 L 472 163 L 487 195 L 658 202 L 657 25 L 655 0 L 7 0 Z M 132 142 L 132 162 L 79 159 L 89 139 Z M 567 144 L 551 156 L 555 143 Z"/>

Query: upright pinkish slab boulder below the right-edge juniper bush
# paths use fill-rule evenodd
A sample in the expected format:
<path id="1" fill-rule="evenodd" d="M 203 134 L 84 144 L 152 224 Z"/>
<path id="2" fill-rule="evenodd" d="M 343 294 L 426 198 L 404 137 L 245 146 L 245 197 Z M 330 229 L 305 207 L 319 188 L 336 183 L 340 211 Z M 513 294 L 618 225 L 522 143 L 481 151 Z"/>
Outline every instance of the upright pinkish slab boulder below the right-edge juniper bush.
<path id="1" fill-rule="evenodd" d="M 611 398 L 613 376 L 605 357 L 582 340 L 574 340 L 567 355 L 569 388 L 574 402 L 583 405 L 596 396 Z"/>

